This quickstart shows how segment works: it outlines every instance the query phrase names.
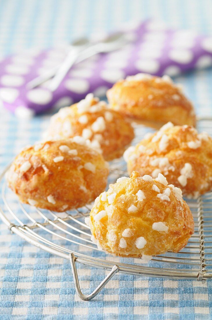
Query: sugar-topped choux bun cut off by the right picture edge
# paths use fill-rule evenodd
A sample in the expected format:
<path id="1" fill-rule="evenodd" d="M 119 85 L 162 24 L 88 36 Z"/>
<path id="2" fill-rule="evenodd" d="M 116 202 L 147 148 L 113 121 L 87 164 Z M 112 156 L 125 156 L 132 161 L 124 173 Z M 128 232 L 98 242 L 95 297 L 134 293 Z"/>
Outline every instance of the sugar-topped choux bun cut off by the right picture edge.
<path id="1" fill-rule="evenodd" d="M 124 159 L 129 174 L 136 170 L 155 178 L 160 172 L 189 198 L 212 189 L 212 138 L 192 126 L 169 122 L 128 148 Z"/>

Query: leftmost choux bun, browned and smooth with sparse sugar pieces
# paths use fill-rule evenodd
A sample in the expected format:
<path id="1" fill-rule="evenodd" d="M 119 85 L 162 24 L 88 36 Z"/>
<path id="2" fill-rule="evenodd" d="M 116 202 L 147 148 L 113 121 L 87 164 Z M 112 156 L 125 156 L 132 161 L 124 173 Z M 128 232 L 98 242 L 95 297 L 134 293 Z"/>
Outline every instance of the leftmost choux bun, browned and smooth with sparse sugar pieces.
<path id="1" fill-rule="evenodd" d="M 81 137 L 24 149 L 7 172 L 21 202 L 57 212 L 93 201 L 106 187 L 108 163 Z"/>

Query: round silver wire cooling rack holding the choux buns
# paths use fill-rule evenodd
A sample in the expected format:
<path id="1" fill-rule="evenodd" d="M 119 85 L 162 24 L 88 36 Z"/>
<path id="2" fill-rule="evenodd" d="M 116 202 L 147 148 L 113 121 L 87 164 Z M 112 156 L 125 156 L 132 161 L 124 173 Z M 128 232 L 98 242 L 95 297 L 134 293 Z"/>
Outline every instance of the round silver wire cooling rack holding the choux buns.
<path id="1" fill-rule="evenodd" d="M 201 118 L 198 130 L 212 135 L 212 118 Z M 142 125 L 135 126 L 138 143 L 146 132 L 153 131 Z M 8 228 L 29 243 L 70 259 L 75 288 L 83 300 L 90 300 L 117 272 L 142 276 L 197 279 L 205 282 L 212 277 L 212 192 L 197 200 L 186 199 L 194 217 L 195 231 L 187 246 L 179 253 L 167 252 L 154 256 L 149 262 L 141 259 L 113 257 L 99 251 L 90 240 L 91 232 L 84 219 L 89 215 L 92 204 L 70 212 L 56 213 L 21 204 L 7 187 L 4 172 L 0 175 L 0 217 Z M 123 159 L 110 163 L 109 183 L 126 176 Z M 76 262 L 95 268 L 110 270 L 102 283 L 90 295 L 85 296 L 77 276 Z"/>

